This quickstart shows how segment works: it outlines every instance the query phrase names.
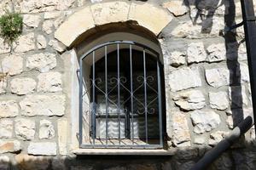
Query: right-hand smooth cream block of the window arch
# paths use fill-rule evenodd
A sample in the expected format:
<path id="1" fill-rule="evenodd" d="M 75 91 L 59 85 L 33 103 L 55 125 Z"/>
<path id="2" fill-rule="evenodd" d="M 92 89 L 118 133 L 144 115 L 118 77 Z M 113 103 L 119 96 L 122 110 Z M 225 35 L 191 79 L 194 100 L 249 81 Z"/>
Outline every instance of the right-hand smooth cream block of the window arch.
<path id="1" fill-rule="evenodd" d="M 131 3 L 128 15 L 128 20 L 136 20 L 139 26 L 148 28 L 155 35 L 158 35 L 172 21 L 168 11 L 153 3 Z"/>

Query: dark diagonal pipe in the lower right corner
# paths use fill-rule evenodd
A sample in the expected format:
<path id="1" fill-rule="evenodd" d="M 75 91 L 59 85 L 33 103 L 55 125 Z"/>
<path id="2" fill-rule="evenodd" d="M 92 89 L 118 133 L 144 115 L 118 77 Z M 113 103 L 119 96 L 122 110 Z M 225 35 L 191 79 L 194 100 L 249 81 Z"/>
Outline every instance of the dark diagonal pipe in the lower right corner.
<path id="1" fill-rule="evenodd" d="M 253 117 L 247 116 L 242 122 L 240 122 L 237 127 L 235 127 L 231 133 L 221 140 L 216 146 L 212 148 L 212 150 L 207 151 L 207 153 L 201 158 L 200 161 L 197 161 L 190 170 L 204 170 L 215 161 L 218 156 L 220 156 L 225 150 L 230 148 L 232 144 L 239 139 L 239 137 L 246 133 L 250 127 L 253 126 Z"/>

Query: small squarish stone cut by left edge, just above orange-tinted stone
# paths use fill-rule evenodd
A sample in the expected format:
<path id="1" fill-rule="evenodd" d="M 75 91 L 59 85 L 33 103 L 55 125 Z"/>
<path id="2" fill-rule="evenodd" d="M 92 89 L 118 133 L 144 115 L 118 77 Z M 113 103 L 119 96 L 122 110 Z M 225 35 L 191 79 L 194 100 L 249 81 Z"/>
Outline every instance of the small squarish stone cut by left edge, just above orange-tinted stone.
<path id="1" fill-rule="evenodd" d="M 0 138 L 11 138 L 13 135 L 13 121 L 9 119 L 0 120 Z"/>

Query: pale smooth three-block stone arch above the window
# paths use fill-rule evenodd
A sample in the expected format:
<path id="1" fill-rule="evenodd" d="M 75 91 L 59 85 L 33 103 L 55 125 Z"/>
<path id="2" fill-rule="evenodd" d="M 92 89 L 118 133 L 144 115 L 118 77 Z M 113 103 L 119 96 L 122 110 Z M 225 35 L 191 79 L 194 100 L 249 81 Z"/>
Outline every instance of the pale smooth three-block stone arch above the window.
<path id="1" fill-rule="evenodd" d="M 142 26 L 157 36 L 171 20 L 171 14 L 154 3 L 130 1 L 96 3 L 71 15 L 55 31 L 55 38 L 67 47 L 71 47 L 81 39 L 81 36 L 84 37 L 84 34 L 92 34 L 97 27 L 110 23 Z"/>

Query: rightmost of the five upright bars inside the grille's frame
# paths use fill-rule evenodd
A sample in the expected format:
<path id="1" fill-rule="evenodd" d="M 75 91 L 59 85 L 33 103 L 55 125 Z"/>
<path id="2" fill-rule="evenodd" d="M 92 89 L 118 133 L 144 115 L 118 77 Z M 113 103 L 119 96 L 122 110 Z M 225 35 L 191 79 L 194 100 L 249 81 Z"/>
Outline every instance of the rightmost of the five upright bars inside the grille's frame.
<path id="1" fill-rule="evenodd" d="M 148 144 L 148 102 L 147 102 L 147 72 L 146 72 L 146 53 L 143 48 L 143 69 L 144 69 L 144 106 L 145 106 L 145 131 L 146 143 Z"/>

